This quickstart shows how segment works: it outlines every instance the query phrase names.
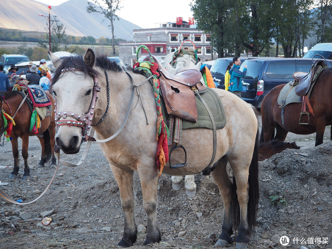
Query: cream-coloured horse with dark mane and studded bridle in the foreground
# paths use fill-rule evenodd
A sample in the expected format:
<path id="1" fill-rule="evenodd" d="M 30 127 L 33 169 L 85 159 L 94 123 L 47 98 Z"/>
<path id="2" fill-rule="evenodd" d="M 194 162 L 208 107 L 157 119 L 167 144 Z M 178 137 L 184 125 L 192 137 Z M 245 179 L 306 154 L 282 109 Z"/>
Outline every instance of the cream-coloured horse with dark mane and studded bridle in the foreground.
<path id="1" fill-rule="evenodd" d="M 134 171 L 138 171 L 139 174 L 143 207 L 147 217 L 147 234 L 143 245 L 160 242 L 161 232 L 157 219 L 157 114 L 150 83 L 143 83 L 146 80 L 143 74 L 127 68 L 132 78 L 129 77 L 124 68 L 111 63 L 106 56 L 95 58 L 91 49 L 88 49 L 83 57 L 70 56 L 61 60 L 50 53 L 50 58 L 56 67 L 51 92 L 56 99 L 57 114 L 66 112 L 77 117 L 75 120 L 70 115 L 64 115 L 58 120 L 58 124 L 68 124 L 58 126 L 55 138 L 56 144 L 65 153 L 77 153 L 80 150 L 83 129 L 77 122 L 80 123 L 81 116 L 87 113 L 94 113 L 92 123 L 96 124 L 94 128 L 97 138 L 105 139 L 117 132 L 126 117 L 128 103 L 135 91 L 132 79 L 136 85 L 140 85 L 139 92 L 134 92 L 133 103 L 137 105 L 132 105 L 123 129 L 113 140 L 99 145 L 120 189 L 124 210 L 124 235 L 119 246 L 132 246 L 137 238 Z M 101 91 L 92 109 L 90 103 L 93 102 L 95 76 L 98 77 Z M 250 231 L 254 228 L 258 208 L 257 116 L 249 104 L 234 94 L 221 89 L 214 90 L 220 96 L 227 117 L 225 127 L 217 130 L 215 169 L 211 172 L 224 206 L 222 232 L 215 245 L 230 245 L 234 226 L 239 231 L 236 248 L 243 249 L 248 247 Z M 187 150 L 187 166 L 170 169 L 166 163 L 163 173 L 182 176 L 196 174 L 207 167 L 213 150 L 211 130 L 183 130 L 182 144 Z M 169 148 L 173 145 L 174 143 Z M 174 151 L 174 155 L 172 153 L 172 162 L 181 163 L 182 159 L 180 152 Z M 229 179 L 226 171 L 227 162 L 233 170 L 233 181 Z"/>

